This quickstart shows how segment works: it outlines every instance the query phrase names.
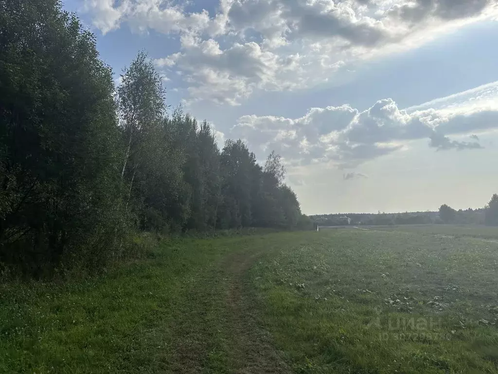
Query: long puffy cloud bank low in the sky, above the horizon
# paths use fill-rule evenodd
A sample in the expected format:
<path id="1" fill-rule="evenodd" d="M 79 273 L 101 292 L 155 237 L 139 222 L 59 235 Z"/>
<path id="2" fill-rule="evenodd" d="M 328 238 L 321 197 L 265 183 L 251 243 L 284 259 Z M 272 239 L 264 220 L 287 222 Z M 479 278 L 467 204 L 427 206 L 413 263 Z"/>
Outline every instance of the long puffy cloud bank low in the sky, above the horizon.
<path id="1" fill-rule="evenodd" d="M 420 139 L 427 139 L 428 146 L 437 151 L 480 149 L 474 133 L 496 129 L 498 108 L 407 110 L 384 99 L 365 111 L 343 105 L 312 108 L 300 118 L 243 116 L 230 136 L 266 153 L 274 149 L 291 165 L 332 163 L 347 169 Z M 452 136 L 467 136 L 472 141 L 457 141 Z"/>

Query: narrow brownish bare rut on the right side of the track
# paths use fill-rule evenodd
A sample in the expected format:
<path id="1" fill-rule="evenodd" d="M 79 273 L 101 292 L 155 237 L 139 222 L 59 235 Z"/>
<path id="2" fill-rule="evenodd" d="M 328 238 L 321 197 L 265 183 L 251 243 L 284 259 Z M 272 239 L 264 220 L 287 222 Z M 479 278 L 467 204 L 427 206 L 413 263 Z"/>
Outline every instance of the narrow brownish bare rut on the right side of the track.
<path id="1" fill-rule="evenodd" d="M 254 315 L 245 274 L 257 258 L 254 253 L 237 253 L 226 259 L 230 287 L 227 292 L 228 325 L 233 338 L 231 357 L 233 373 L 290 373 L 281 354 L 271 344 L 266 331 L 259 326 Z"/>

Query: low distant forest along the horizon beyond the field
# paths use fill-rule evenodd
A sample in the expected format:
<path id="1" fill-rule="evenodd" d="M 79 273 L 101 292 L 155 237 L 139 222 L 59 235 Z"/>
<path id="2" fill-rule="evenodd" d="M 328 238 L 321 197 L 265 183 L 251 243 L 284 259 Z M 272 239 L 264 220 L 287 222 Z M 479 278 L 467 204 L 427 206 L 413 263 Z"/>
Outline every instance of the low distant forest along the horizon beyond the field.
<path id="1" fill-rule="evenodd" d="M 498 226 L 498 194 L 480 209 L 453 209 L 447 204 L 438 211 L 404 213 L 339 213 L 310 216 L 320 226 L 403 225 L 403 224 L 476 224 Z"/>

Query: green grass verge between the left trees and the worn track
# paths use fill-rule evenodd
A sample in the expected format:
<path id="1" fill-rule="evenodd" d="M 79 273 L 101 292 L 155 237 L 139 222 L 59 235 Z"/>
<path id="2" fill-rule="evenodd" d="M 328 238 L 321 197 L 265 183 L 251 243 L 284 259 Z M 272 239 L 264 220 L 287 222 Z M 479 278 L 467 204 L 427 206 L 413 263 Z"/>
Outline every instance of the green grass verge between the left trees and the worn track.
<path id="1" fill-rule="evenodd" d="M 85 282 L 4 285 L 0 373 L 175 370 L 170 347 L 219 314 L 216 263 L 231 240 L 164 244 L 155 259 Z"/>

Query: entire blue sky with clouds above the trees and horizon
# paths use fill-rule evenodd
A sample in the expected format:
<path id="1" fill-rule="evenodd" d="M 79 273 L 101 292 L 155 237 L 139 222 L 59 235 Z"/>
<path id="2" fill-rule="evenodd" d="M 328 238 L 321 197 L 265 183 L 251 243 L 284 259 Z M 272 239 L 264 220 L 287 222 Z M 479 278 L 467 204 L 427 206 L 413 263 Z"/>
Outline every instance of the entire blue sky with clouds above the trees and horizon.
<path id="1" fill-rule="evenodd" d="M 181 104 L 306 214 L 483 207 L 498 192 L 498 0 L 66 0 L 123 68 Z"/>

